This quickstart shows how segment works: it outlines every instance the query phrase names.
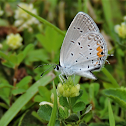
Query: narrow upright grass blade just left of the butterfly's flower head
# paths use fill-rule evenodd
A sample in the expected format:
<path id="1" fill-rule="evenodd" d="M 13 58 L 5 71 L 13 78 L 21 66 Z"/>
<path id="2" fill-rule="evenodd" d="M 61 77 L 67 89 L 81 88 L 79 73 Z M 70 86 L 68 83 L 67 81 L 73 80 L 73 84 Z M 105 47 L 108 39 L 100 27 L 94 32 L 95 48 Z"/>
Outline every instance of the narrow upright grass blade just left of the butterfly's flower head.
<path id="1" fill-rule="evenodd" d="M 57 92 L 56 92 L 56 87 L 54 83 L 53 83 L 53 94 L 54 94 L 53 110 L 52 110 L 52 114 L 51 114 L 51 118 L 50 118 L 48 126 L 55 125 L 56 114 L 57 114 Z"/>

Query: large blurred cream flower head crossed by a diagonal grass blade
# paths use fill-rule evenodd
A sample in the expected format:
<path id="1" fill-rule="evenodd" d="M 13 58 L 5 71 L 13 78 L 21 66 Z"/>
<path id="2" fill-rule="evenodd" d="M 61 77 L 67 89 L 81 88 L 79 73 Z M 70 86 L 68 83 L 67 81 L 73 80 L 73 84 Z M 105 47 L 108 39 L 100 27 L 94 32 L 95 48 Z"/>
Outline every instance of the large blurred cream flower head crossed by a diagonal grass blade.
<path id="1" fill-rule="evenodd" d="M 19 6 L 37 15 L 37 11 L 36 9 L 34 9 L 33 4 L 20 3 Z M 28 29 L 28 31 L 32 31 L 31 25 L 39 24 L 39 21 L 35 17 L 29 15 L 19 7 L 15 11 L 14 17 L 16 19 L 14 25 L 18 27 L 19 31 L 22 31 L 23 29 Z"/>

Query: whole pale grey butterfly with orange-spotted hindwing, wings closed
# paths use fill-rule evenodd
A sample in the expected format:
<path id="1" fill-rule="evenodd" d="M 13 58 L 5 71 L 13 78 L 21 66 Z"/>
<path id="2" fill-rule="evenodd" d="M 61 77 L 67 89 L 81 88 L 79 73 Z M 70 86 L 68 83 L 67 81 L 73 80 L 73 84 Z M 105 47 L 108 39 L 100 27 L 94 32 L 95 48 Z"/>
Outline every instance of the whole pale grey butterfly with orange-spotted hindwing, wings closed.
<path id="1" fill-rule="evenodd" d="M 96 79 L 107 58 L 108 49 L 93 19 L 79 12 L 69 26 L 60 51 L 60 64 L 55 70 L 61 75 L 80 75 Z"/>

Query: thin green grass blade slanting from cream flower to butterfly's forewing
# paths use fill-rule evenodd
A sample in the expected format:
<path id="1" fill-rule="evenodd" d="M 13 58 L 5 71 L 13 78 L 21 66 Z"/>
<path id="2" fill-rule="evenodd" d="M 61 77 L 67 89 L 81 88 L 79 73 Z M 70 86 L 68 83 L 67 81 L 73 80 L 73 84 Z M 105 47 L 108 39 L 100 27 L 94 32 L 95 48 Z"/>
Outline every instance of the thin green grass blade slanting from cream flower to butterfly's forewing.
<path id="1" fill-rule="evenodd" d="M 20 6 L 18 6 L 20 7 Z M 35 17 L 36 19 L 38 19 L 40 22 L 43 22 L 44 24 L 46 24 L 47 26 L 52 27 L 53 29 L 55 29 L 58 33 L 60 33 L 61 35 L 65 36 L 65 33 L 62 32 L 60 29 L 58 29 L 56 26 L 54 26 L 53 24 L 51 24 L 50 22 L 46 21 L 45 19 L 39 17 L 38 15 L 35 15 L 33 13 L 31 13 L 30 11 L 25 10 L 24 8 L 20 7 L 22 10 L 24 10 L 25 12 L 27 12 L 28 14 L 30 14 L 31 16 Z"/>

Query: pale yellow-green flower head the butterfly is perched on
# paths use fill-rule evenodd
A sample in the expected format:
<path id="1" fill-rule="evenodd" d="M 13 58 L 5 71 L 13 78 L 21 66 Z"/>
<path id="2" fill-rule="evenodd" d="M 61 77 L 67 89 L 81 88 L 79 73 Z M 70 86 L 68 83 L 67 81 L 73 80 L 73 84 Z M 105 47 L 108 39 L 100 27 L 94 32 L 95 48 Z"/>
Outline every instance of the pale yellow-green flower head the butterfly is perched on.
<path id="1" fill-rule="evenodd" d="M 58 84 L 57 92 L 59 95 L 63 97 L 75 97 L 79 95 L 80 85 L 74 85 L 72 80 L 68 80 L 63 85 L 61 83 Z"/>

